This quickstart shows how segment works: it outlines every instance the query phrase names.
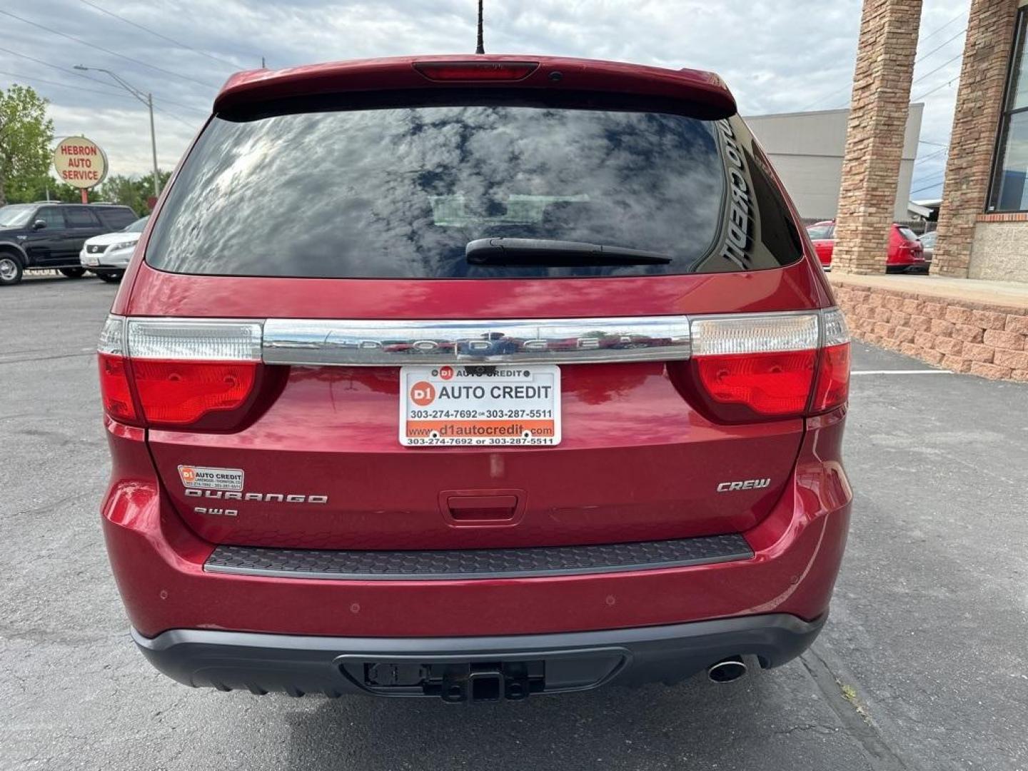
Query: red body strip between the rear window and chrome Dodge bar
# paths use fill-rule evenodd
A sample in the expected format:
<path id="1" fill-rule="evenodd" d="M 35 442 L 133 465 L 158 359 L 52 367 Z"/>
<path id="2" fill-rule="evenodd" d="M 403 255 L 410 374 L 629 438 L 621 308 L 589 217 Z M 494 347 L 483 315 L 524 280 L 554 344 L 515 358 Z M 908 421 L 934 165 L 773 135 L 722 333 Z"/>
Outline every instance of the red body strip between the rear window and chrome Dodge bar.
<path id="1" fill-rule="evenodd" d="M 806 259 L 737 273 L 610 279 L 280 279 L 167 273 L 134 258 L 131 316 L 299 319 L 573 319 L 828 307 Z M 726 298 L 730 297 L 730 304 Z M 121 299 L 119 294 L 118 299 Z M 259 313 L 255 313 L 259 309 Z"/>

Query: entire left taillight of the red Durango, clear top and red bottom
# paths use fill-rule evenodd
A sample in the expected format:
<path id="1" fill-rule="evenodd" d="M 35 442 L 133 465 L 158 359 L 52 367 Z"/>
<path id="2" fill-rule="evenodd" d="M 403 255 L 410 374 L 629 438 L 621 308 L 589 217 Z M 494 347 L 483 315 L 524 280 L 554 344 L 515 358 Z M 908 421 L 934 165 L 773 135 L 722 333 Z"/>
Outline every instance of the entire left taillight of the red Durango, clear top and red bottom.
<path id="1" fill-rule="evenodd" d="M 112 316 L 100 338 L 104 409 L 145 428 L 233 430 L 251 411 L 260 357 L 258 323 Z"/>

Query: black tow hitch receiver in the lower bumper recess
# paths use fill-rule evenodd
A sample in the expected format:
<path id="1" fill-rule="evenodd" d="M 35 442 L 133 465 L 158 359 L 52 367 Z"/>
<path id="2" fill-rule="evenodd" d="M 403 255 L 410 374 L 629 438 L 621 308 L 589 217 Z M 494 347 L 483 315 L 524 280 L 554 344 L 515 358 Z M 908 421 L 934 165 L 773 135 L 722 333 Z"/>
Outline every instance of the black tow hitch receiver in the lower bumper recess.
<path id="1" fill-rule="evenodd" d="M 527 698 L 546 685 L 542 661 L 365 664 L 364 687 L 382 695 L 438 696 L 457 704 Z M 418 692 L 420 692 L 418 694 Z"/>

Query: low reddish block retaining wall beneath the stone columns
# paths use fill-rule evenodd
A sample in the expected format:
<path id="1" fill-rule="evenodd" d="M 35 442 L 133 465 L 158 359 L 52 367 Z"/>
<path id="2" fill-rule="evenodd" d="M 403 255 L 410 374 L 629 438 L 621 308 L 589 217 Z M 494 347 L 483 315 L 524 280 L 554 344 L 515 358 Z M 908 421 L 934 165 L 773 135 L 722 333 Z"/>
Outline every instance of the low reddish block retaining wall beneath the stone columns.
<path id="1" fill-rule="evenodd" d="M 1028 311 L 853 285 L 834 287 L 855 339 L 928 364 L 1028 382 Z"/>

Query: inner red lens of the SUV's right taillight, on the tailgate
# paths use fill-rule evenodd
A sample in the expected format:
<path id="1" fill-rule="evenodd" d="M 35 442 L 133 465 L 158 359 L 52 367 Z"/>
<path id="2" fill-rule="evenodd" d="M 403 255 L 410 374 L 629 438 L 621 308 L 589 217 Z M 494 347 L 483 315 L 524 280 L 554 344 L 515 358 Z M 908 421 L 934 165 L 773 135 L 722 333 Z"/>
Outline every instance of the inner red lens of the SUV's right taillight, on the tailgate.
<path id="1" fill-rule="evenodd" d="M 696 360 L 700 382 L 715 402 L 743 404 L 762 415 L 803 412 L 814 379 L 814 351 L 737 354 Z"/>

